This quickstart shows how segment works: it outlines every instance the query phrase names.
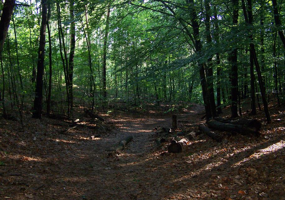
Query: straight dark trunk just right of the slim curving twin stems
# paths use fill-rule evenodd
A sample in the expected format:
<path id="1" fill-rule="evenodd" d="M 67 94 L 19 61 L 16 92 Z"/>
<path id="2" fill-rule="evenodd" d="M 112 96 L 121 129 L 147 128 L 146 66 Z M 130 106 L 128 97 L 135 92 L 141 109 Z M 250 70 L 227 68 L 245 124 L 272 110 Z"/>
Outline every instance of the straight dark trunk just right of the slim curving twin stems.
<path id="1" fill-rule="evenodd" d="M 68 78 L 69 78 L 69 117 L 73 117 L 73 68 L 74 68 L 74 52 L 75 52 L 75 21 L 74 21 L 74 0 L 69 1 L 70 14 L 70 52 L 68 60 Z"/>

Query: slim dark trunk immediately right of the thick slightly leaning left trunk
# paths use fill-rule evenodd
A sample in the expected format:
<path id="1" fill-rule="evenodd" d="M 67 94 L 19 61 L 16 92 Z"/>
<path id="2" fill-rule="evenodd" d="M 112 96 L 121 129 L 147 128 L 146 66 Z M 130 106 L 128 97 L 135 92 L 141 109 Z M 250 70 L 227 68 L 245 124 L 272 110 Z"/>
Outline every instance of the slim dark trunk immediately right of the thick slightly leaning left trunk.
<path id="1" fill-rule="evenodd" d="M 51 96 L 51 76 L 52 76 L 52 59 L 51 59 L 51 36 L 50 36 L 50 2 L 48 5 L 49 11 L 47 15 L 47 29 L 49 35 L 49 90 L 48 90 L 48 99 L 46 102 L 46 114 L 50 114 L 50 96 Z"/>

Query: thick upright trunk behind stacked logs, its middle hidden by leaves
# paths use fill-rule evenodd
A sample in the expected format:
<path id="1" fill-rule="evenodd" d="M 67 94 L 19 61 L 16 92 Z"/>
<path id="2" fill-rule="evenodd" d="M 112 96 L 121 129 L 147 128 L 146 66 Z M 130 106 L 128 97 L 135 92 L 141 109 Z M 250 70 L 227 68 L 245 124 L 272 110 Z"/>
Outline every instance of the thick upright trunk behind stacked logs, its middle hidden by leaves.
<path id="1" fill-rule="evenodd" d="M 239 0 L 232 0 L 233 6 L 233 25 L 237 26 L 239 17 Z M 233 30 L 236 27 L 232 28 Z M 231 63 L 231 118 L 238 117 L 238 66 L 237 66 L 237 49 L 230 53 Z"/>

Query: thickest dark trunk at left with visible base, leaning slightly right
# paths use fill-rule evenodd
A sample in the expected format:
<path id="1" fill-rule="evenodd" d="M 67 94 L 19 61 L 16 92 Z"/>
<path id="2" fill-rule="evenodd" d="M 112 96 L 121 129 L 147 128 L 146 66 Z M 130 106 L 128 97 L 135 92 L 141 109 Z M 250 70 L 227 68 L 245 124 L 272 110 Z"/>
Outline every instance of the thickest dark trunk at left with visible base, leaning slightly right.
<path id="1" fill-rule="evenodd" d="M 45 59 L 45 30 L 47 22 L 47 3 L 41 0 L 42 18 L 40 26 L 40 45 L 38 51 L 37 80 L 34 100 L 34 109 L 32 117 L 41 119 L 42 99 L 43 99 L 43 75 L 44 75 L 44 59 Z"/>

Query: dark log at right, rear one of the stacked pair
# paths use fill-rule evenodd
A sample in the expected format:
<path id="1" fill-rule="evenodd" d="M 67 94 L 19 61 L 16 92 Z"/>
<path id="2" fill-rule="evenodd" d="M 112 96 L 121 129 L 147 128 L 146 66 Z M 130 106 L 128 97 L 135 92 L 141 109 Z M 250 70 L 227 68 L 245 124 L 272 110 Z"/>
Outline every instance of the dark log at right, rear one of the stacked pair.
<path id="1" fill-rule="evenodd" d="M 242 125 L 251 129 L 254 129 L 255 131 L 259 131 L 261 128 L 261 122 L 257 119 L 224 119 L 221 117 L 215 117 L 216 121 L 222 122 L 222 123 L 230 123 L 230 124 L 236 124 L 236 125 Z"/>

